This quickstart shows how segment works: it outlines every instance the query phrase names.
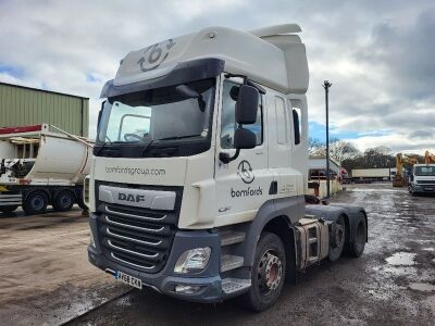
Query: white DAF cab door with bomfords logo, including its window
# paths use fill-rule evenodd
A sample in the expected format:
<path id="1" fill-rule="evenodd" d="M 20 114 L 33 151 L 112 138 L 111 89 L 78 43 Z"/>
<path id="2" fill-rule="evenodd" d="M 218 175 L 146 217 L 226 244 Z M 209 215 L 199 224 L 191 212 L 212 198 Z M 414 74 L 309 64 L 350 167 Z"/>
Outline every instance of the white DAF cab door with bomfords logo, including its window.
<path id="1" fill-rule="evenodd" d="M 239 78 L 224 78 L 221 84 L 221 101 L 217 114 L 216 150 L 215 150 L 215 189 L 216 220 L 215 226 L 251 221 L 257 211 L 270 198 L 273 176 L 269 171 L 266 114 L 264 96 L 260 95 L 257 122 L 244 125 L 256 134 L 257 146 L 253 149 L 240 150 L 238 158 L 228 164 L 220 160 L 220 153 L 233 156 L 235 105 L 237 101 Z"/>

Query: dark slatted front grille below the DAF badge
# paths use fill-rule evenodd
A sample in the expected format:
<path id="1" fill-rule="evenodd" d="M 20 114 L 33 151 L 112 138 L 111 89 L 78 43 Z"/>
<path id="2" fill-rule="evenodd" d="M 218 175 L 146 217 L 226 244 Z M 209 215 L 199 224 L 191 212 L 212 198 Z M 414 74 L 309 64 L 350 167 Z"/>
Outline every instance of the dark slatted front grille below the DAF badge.
<path id="1" fill-rule="evenodd" d="M 179 206 L 179 191 L 173 211 L 97 201 L 99 239 L 104 256 L 139 272 L 158 273 L 170 254 Z"/>

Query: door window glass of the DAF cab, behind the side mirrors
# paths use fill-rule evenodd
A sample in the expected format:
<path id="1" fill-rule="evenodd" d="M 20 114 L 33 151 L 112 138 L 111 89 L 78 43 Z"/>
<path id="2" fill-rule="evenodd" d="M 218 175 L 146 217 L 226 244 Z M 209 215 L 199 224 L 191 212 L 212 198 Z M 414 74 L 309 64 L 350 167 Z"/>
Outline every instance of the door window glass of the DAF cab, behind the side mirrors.
<path id="1" fill-rule="evenodd" d="M 222 92 L 222 113 L 221 113 L 221 147 L 223 149 L 234 148 L 234 131 L 237 128 L 236 123 L 236 101 L 240 85 L 234 82 L 225 80 Z M 257 146 L 263 142 L 261 97 L 257 121 L 252 125 L 244 125 L 244 128 L 256 134 Z"/>

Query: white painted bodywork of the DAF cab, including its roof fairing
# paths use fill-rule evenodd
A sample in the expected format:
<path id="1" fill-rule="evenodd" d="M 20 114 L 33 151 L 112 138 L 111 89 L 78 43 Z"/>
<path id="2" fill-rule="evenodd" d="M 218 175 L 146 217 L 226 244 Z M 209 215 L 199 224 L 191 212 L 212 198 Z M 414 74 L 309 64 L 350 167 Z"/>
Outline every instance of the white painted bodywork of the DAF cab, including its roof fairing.
<path id="1" fill-rule="evenodd" d="M 220 161 L 221 152 L 235 152 L 222 149 L 220 143 L 222 86 L 225 79 L 222 74 L 217 77 L 211 148 L 187 158 L 95 158 L 89 183 L 90 211 L 96 210 L 96 180 L 120 185 L 183 186 L 178 218 L 178 227 L 182 229 L 204 229 L 249 222 L 268 200 L 302 196 L 307 187 L 308 165 L 308 111 L 304 96 L 308 65 L 304 45 L 296 35 L 273 35 L 276 32 L 285 34 L 297 30 L 297 25 L 265 28 L 252 34 L 224 27 L 204 28 L 172 41 L 160 42 L 161 49 L 170 46 L 170 50 L 162 53 L 167 53 L 167 58 L 157 68 L 148 72 L 142 72 L 138 64 L 147 48 L 129 52 L 113 80 L 115 86 L 152 79 L 167 74 L 179 62 L 200 58 L 223 59 L 225 73 L 247 75 L 259 83 L 266 90 L 262 96 L 263 143 L 250 150 L 241 150 L 239 158 L 229 164 Z M 236 83 L 241 80 L 232 79 Z M 282 116 L 277 116 L 276 99 L 284 105 Z M 294 139 L 293 108 L 298 108 L 301 113 L 299 145 L 295 145 Z M 279 139 L 277 129 L 282 133 Z M 250 163 L 254 175 L 251 184 L 246 184 L 238 174 L 238 166 L 244 160 Z M 159 173 L 153 175 L 145 171 Z M 273 180 L 277 181 L 277 193 L 269 195 Z M 252 191 L 253 196 L 250 195 Z M 235 196 L 236 192 L 240 197 Z"/>

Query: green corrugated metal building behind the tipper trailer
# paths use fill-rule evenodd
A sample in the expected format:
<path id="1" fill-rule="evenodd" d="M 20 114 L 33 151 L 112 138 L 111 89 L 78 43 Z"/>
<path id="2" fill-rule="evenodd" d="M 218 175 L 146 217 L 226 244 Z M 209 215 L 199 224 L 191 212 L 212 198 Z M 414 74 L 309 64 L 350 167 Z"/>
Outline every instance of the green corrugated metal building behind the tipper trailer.
<path id="1" fill-rule="evenodd" d="M 48 123 L 88 136 L 89 99 L 0 83 L 0 127 Z"/>

